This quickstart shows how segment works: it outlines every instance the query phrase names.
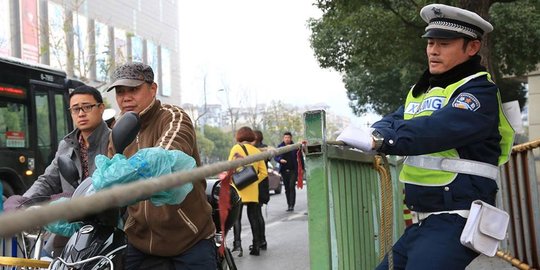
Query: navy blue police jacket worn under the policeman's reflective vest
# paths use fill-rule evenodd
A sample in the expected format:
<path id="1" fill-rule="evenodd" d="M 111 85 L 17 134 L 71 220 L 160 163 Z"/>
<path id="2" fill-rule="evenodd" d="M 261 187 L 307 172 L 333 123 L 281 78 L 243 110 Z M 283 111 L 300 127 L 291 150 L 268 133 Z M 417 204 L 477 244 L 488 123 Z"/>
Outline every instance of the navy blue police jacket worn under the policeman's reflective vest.
<path id="1" fill-rule="evenodd" d="M 411 89 L 413 95 L 432 87 L 453 84 L 485 71 L 480 57 L 475 56 L 444 74 L 426 71 Z M 473 97 L 469 108 L 453 106 L 460 95 Z M 437 104 L 431 104 L 437 106 Z M 471 109 L 474 108 L 474 109 Z M 372 127 L 384 137 L 379 151 L 392 155 L 423 155 L 456 149 L 459 157 L 498 165 L 501 155 L 499 133 L 499 103 L 497 86 L 487 76 L 474 78 L 459 87 L 446 106 L 432 108 L 429 117 L 404 120 L 404 107 L 376 122 Z M 498 187 L 494 180 L 470 174 L 457 174 L 445 186 L 405 184 L 405 203 L 410 210 L 436 212 L 469 209 L 477 199 L 495 203 Z"/>

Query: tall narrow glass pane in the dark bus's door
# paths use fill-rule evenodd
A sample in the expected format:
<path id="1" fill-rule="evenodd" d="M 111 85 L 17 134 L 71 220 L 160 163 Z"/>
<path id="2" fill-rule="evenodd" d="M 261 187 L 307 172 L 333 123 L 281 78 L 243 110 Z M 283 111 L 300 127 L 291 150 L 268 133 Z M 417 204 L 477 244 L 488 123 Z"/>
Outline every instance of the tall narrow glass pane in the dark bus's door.
<path id="1" fill-rule="evenodd" d="M 40 160 L 49 163 L 49 155 L 52 151 L 51 144 L 51 123 L 49 114 L 49 98 L 47 92 L 36 91 L 36 122 L 37 137 L 38 137 L 38 153 L 41 156 Z"/>

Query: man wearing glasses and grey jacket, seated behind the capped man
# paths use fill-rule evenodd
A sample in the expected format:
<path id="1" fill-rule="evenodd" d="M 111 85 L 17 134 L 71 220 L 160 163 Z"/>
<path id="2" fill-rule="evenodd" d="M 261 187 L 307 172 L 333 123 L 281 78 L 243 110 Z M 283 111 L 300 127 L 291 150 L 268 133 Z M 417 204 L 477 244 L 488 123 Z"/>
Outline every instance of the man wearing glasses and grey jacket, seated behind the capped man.
<path id="1" fill-rule="evenodd" d="M 42 197 L 55 200 L 70 197 L 75 188 L 95 170 L 94 158 L 107 154 L 110 129 L 102 120 L 105 105 L 101 93 L 90 86 L 79 86 L 69 95 L 69 108 L 75 130 L 60 141 L 56 155 L 45 172 L 22 195 L 14 195 L 6 201 L 6 209 L 14 209 L 29 199 Z M 79 179 L 64 179 L 58 170 L 58 157 L 68 156 L 79 171 Z M 49 240 L 51 240 L 49 238 Z M 67 238 L 55 237 L 48 241 L 45 249 L 58 251 L 67 242 Z M 52 243 L 52 247 L 50 246 Z M 49 246 L 48 246 L 49 245 Z M 57 252 L 49 254 L 60 255 Z"/>

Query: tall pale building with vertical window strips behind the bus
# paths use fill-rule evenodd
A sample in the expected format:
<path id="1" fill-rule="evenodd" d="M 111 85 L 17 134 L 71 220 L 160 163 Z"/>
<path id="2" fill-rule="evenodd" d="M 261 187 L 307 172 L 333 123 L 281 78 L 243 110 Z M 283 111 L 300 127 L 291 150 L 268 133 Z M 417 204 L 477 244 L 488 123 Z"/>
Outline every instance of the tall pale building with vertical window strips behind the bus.
<path id="1" fill-rule="evenodd" d="M 0 9 L 1 56 L 50 65 L 98 89 L 119 64 L 144 62 L 158 98 L 180 104 L 176 0 L 0 0 Z M 114 94 L 104 96 L 116 108 Z"/>

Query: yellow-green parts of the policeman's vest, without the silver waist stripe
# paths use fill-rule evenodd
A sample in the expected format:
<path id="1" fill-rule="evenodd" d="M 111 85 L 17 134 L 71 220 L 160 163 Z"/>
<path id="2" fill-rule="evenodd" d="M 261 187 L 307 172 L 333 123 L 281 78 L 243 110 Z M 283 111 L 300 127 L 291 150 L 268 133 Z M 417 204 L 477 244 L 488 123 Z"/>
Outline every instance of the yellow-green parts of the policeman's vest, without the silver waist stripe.
<path id="1" fill-rule="evenodd" d="M 487 72 L 478 72 L 474 75 L 468 76 L 456 83 L 448 85 L 446 88 L 434 87 L 430 89 L 429 92 L 414 97 L 412 91 L 409 91 L 407 100 L 405 102 L 405 110 L 403 118 L 405 120 L 410 120 L 415 117 L 427 116 L 429 117 L 434 111 L 441 109 L 446 106 L 450 101 L 450 98 L 454 92 L 463 84 L 469 82 L 472 79 L 487 76 L 487 79 L 491 81 L 491 76 Z M 501 103 L 501 97 L 499 91 L 497 91 L 497 100 L 499 103 L 499 132 L 501 134 L 501 141 L 499 145 L 501 147 L 501 155 L 499 156 L 499 164 L 502 165 L 508 161 L 510 156 L 510 151 L 512 150 L 512 144 L 514 140 L 514 130 L 510 126 L 508 119 L 504 115 Z M 432 153 L 428 155 L 419 156 L 419 158 L 426 157 L 426 159 L 445 159 L 447 161 L 459 160 L 467 161 L 460 159 L 459 154 L 456 149 L 450 149 L 442 152 Z M 415 157 L 416 158 L 416 157 Z M 478 161 L 471 161 L 476 162 Z M 403 169 L 400 172 L 399 179 L 404 183 L 422 185 L 422 186 L 444 186 L 456 178 L 458 172 L 456 171 L 447 171 L 444 169 L 428 169 L 422 166 L 411 166 L 407 165 L 407 162 L 403 165 Z M 481 162 L 483 163 L 483 162 Z M 484 163 L 488 166 L 493 166 L 491 164 Z"/>

